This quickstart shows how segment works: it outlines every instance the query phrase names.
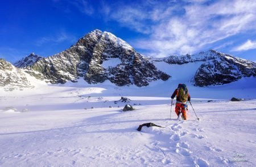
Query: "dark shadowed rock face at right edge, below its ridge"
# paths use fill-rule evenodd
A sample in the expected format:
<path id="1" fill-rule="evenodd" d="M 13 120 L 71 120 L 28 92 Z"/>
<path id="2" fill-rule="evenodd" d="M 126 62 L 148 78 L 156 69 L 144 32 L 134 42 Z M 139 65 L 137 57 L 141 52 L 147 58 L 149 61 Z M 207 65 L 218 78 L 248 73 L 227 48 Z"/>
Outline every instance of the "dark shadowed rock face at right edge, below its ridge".
<path id="1" fill-rule="evenodd" d="M 200 87 L 221 85 L 237 81 L 242 77 L 256 76 L 256 63 L 229 54 L 214 53 L 216 57 L 205 62 L 197 70 L 195 85 Z"/>

